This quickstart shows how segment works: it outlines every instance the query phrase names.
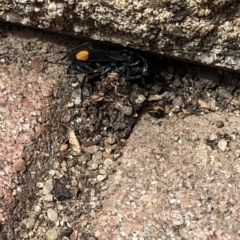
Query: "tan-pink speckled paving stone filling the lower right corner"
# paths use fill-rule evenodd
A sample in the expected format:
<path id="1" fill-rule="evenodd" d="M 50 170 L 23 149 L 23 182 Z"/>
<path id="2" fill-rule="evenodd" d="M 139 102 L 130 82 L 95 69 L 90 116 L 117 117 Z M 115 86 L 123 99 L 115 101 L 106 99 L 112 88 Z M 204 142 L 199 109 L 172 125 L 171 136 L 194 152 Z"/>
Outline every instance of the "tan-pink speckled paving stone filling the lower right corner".
<path id="1" fill-rule="evenodd" d="M 221 129 L 218 119 L 228 119 Z M 239 132 L 239 118 L 222 113 L 178 122 L 143 116 L 103 196 L 95 236 L 239 239 Z M 207 144 L 214 133 L 231 136 L 224 151 Z"/>

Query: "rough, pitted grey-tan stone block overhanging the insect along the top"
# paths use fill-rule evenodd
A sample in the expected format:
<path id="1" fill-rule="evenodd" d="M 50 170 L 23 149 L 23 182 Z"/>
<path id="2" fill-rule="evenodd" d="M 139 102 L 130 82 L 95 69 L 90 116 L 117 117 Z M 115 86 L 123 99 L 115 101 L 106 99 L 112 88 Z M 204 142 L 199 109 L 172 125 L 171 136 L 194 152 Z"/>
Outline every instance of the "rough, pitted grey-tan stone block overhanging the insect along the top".
<path id="1" fill-rule="evenodd" d="M 240 70 L 236 0 L 1 1 L 0 19 Z"/>

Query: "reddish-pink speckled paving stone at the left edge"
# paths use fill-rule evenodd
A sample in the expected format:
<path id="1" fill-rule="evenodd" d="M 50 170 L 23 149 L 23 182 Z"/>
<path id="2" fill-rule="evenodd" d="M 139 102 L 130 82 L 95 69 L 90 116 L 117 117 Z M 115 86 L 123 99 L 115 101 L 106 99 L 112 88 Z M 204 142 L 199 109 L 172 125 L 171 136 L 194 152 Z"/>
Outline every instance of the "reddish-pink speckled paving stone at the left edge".
<path id="1" fill-rule="evenodd" d="M 15 197 L 22 192 L 17 176 L 31 162 L 23 151 L 42 132 L 38 120 L 52 84 L 52 79 L 26 74 L 17 65 L 0 65 L 0 223 L 9 218 Z"/>

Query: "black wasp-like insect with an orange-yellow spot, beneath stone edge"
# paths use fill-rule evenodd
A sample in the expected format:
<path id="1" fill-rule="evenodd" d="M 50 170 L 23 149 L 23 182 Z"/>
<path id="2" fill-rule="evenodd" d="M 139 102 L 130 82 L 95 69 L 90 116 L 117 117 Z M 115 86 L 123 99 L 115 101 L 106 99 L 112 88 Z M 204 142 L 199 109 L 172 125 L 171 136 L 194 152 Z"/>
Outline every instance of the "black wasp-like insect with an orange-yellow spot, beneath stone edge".
<path id="1" fill-rule="evenodd" d="M 71 61 L 68 74 L 87 74 L 89 78 L 95 78 L 114 72 L 127 80 L 143 79 L 149 75 L 147 61 L 132 51 L 99 50 L 90 43 L 83 43 L 62 60 L 66 57 Z"/>

